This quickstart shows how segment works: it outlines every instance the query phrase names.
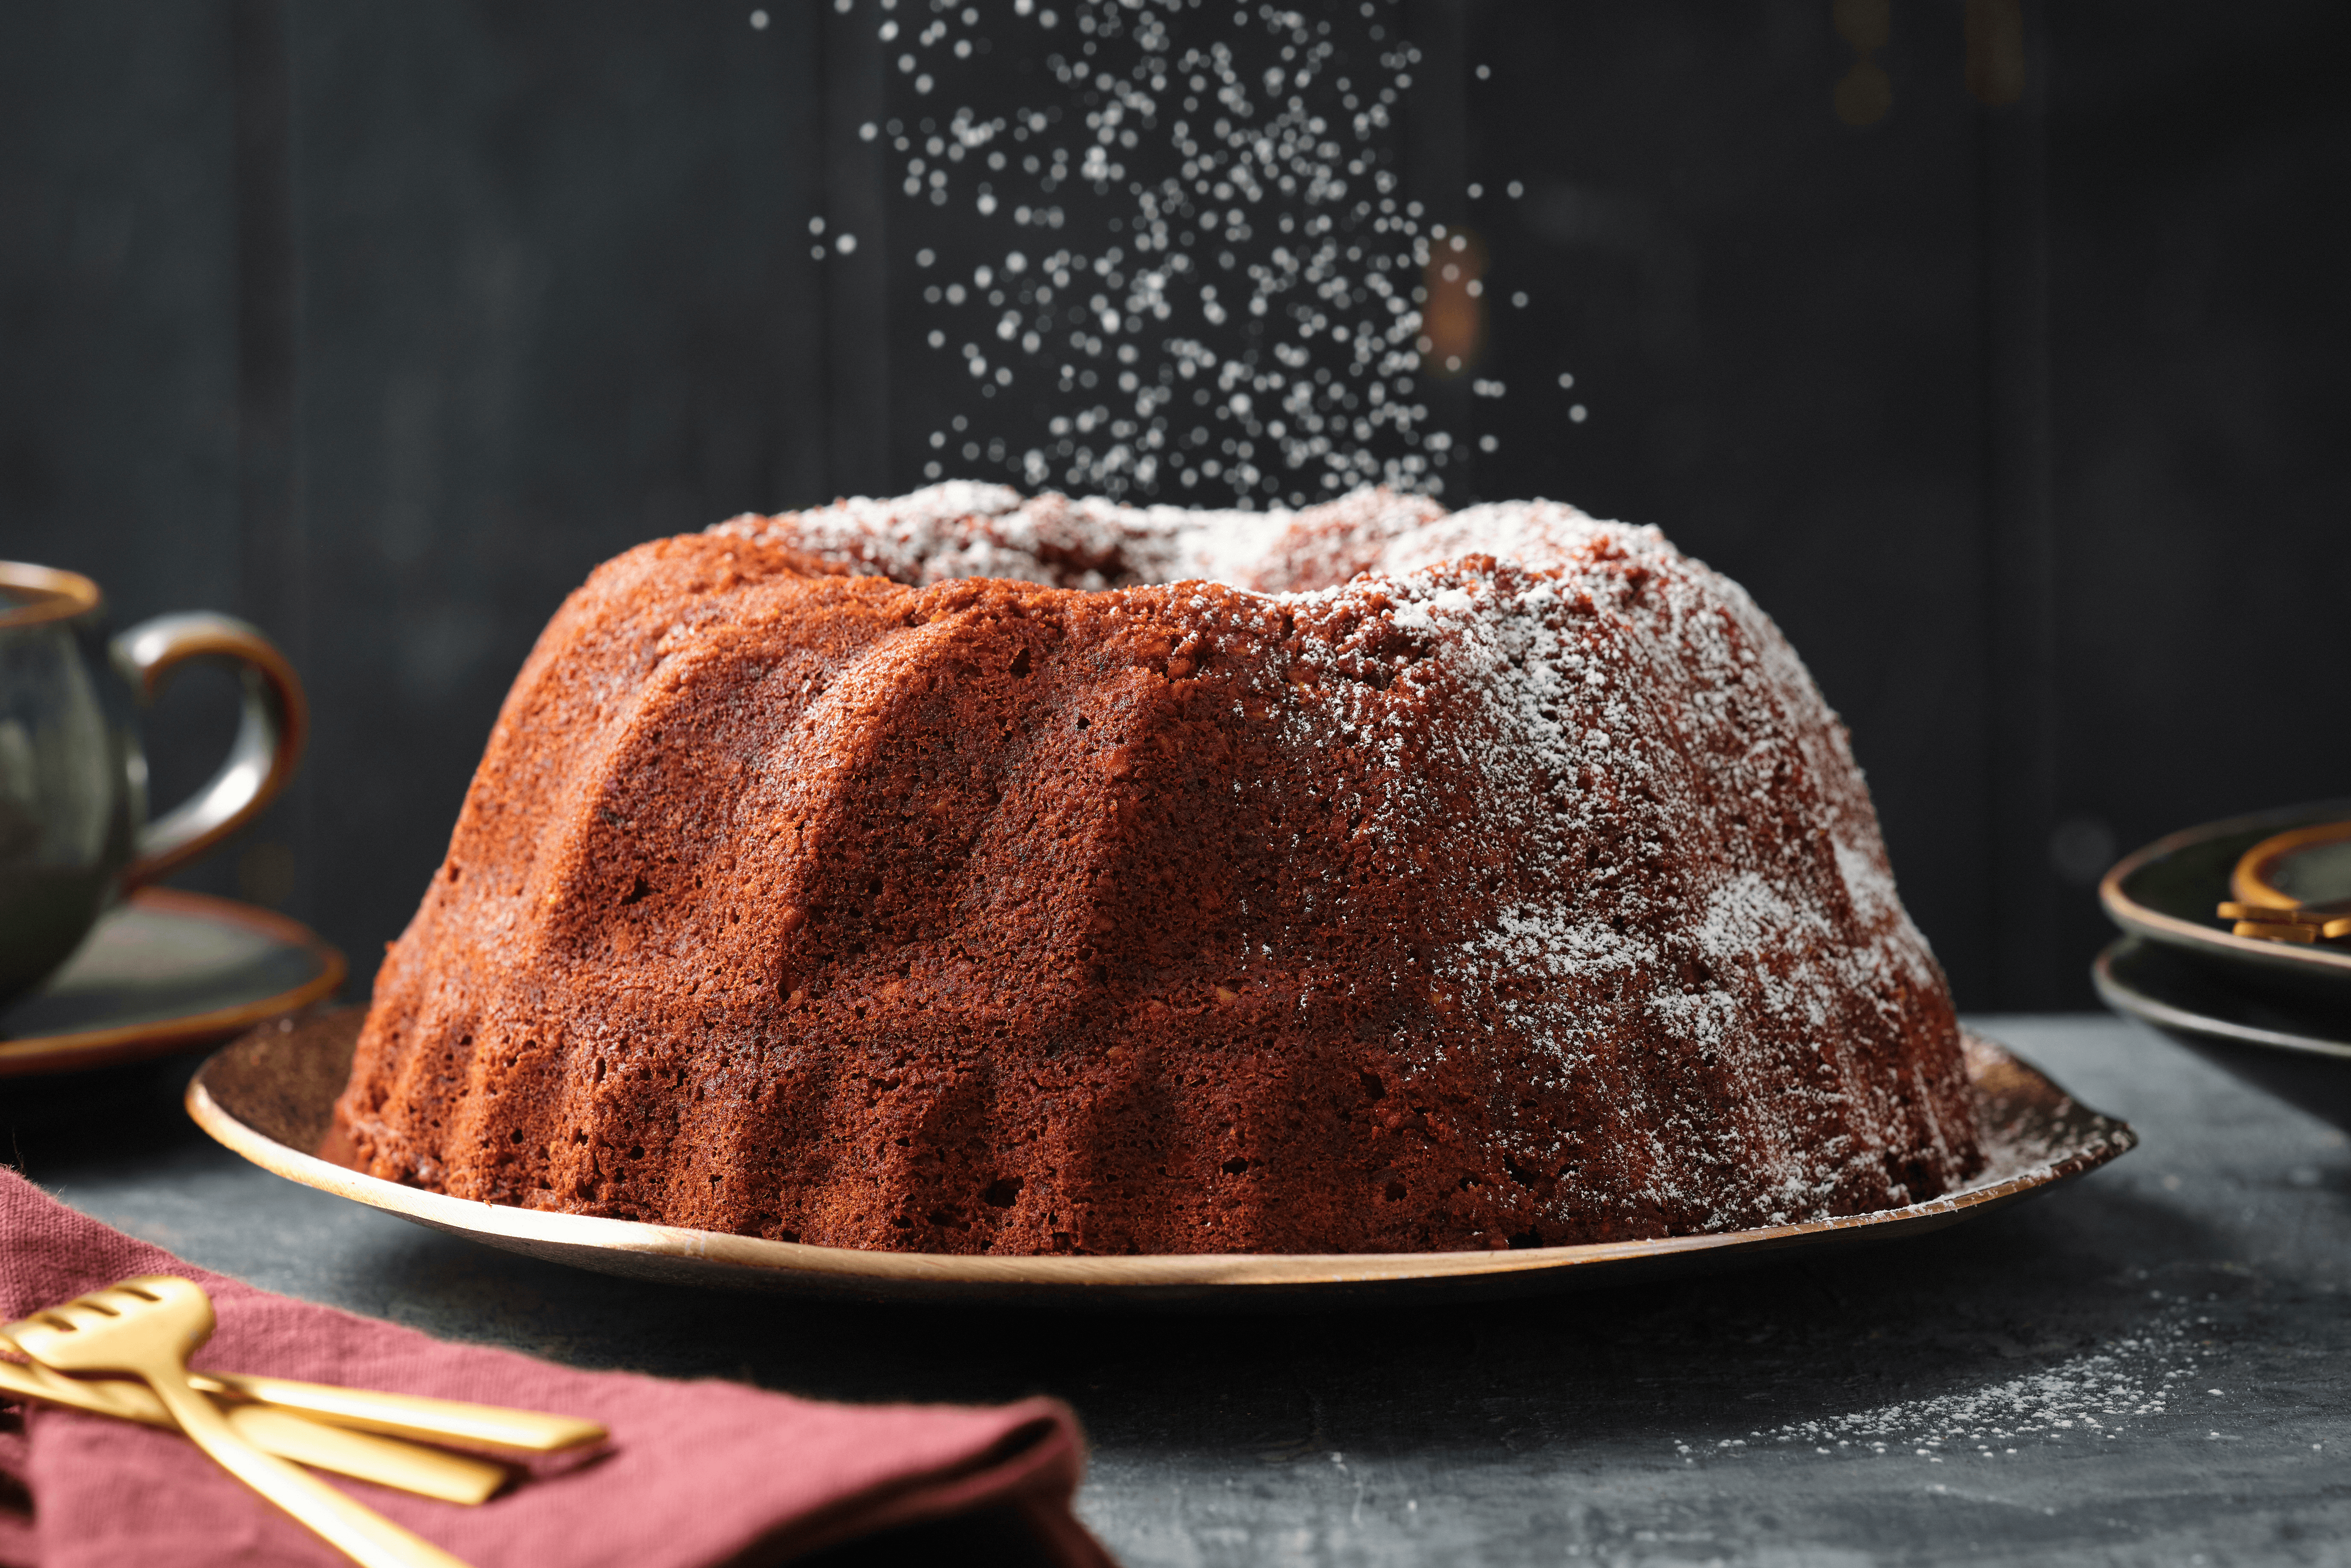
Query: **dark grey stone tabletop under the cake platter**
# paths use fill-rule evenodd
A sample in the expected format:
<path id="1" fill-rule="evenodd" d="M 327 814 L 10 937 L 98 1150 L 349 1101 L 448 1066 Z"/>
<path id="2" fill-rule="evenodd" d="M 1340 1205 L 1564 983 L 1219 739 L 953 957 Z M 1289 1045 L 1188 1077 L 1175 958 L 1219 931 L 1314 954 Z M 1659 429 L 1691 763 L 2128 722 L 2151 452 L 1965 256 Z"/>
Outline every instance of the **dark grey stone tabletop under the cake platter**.
<path id="1" fill-rule="evenodd" d="M 1984 1018 L 2144 1145 L 1916 1241 L 1512 1305 L 809 1305 L 496 1253 L 282 1182 L 188 1063 L 0 1084 L 0 1157 L 273 1291 L 576 1366 L 1067 1399 L 1166 1563 L 2342 1563 L 2351 1147 L 2106 1018 Z"/>

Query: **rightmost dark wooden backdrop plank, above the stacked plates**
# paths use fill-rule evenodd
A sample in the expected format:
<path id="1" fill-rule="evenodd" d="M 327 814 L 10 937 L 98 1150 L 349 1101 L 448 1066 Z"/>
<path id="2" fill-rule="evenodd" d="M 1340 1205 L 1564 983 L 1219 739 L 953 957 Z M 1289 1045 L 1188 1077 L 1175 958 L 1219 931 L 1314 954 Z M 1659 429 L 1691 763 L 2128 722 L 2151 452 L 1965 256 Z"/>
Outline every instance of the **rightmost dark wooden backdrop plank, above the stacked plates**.
<path id="1" fill-rule="evenodd" d="M 2106 846 L 2351 795 L 2351 12 L 2050 12 L 2057 947 Z M 2283 639 L 2283 642 L 2273 642 Z"/>

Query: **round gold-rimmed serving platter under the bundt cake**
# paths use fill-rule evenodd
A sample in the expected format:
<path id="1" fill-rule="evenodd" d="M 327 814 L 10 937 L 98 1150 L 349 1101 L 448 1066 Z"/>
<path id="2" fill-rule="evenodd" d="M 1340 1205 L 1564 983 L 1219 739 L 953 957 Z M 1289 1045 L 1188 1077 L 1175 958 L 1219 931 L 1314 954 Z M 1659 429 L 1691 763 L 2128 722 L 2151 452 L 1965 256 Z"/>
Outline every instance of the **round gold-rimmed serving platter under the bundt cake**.
<path id="1" fill-rule="evenodd" d="M 1709 1237 L 1498 1253 L 1201 1253 L 1011 1258 L 868 1253 L 672 1225 L 477 1204 L 350 1171 L 327 1147 L 360 1011 L 289 1018 L 219 1051 L 188 1084 L 188 1114 L 256 1166 L 487 1246 L 604 1274 L 686 1286 L 898 1302 L 1342 1307 L 1526 1295 L 1629 1276 L 1726 1267 L 1789 1248 L 1916 1237 L 2095 1171 L 2137 1145 L 2123 1121 L 2078 1105 L 2031 1063 L 1968 1039 L 1968 1079 L 1991 1166 L 1965 1190 L 1883 1213 Z"/>

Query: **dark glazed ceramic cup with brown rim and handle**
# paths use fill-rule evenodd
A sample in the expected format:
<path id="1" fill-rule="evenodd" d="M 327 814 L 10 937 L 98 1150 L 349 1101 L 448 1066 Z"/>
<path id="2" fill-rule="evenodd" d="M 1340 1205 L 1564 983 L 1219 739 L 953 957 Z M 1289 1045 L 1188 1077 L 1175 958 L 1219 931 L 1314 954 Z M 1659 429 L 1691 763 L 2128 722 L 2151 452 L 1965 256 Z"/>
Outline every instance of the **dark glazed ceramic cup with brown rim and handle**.
<path id="1" fill-rule="evenodd" d="M 190 658 L 240 665 L 245 715 L 221 771 L 150 823 L 134 705 Z M 108 642 L 96 583 L 0 562 L 0 1004 L 63 964 L 122 893 L 270 804 L 306 715 L 294 668 L 247 623 L 155 616 Z"/>

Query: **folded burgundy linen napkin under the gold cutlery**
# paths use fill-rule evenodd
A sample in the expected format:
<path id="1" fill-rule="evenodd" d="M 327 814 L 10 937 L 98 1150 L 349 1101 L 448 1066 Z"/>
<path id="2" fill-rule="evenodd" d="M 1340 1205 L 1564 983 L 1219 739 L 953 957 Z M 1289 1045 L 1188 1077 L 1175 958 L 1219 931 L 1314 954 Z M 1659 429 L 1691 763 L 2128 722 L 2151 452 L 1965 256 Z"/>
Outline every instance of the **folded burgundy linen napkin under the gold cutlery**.
<path id="1" fill-rule="evenodd" d="M 212 1293 L 219 1328 L 195 1368 L 585 1415 L 592 1455 L 550 1455 L 482 1507 L 327 1476 L 367 1507 L 475 1563 L 776 1563 L 896 1526 L 987 1519 L 1034 1561 L 1110 1556 L 1070 1514 L 1084 1467 L 1077 1418 L 1051 1399 L 999 1408 L 835 1406 L 734 1382 L 578 1373 L 505 1349 L 317 1307 L 125 1237 L 0 1168 L 0 1321 L 132 1274 Z M 0 1413 L 0 1563 L 343 1563 L 193 1443 L 103 1415 Z"/>

